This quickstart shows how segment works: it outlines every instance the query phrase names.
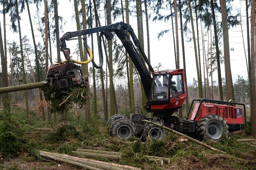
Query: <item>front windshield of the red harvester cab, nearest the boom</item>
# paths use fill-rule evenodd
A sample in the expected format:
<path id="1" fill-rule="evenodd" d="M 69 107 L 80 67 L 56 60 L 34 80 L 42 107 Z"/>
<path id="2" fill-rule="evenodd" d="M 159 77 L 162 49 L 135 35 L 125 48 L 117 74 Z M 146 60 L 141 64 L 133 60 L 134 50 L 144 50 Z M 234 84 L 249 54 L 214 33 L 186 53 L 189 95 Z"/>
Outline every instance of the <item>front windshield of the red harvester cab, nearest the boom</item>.
<path id="1" fill-rule="evenodd" d="M 169 91 L 169 74 L 159 74 L 154 76 L 154 86 L 151 99 L 166 100 Z"/>

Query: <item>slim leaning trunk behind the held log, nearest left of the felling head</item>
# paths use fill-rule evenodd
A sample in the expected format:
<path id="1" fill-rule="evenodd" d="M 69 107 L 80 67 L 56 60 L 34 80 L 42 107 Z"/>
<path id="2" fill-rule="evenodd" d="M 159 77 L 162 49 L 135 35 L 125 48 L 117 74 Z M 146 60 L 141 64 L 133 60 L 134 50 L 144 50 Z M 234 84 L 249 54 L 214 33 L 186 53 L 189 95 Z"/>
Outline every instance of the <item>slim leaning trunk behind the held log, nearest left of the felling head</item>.
<path id="1" fill-rule="evenodd" d="M 33 24 L 32 24 L 32 20 L 31 20 L 31 15 L 30 15 L 30 11 L 29 11 L 29 5 L 28 5 L 28 0 L 26 0 L 26 4 L 27 4 L 27 9 L 28 9 L 28 18 L 29 18 L 29 23 L 30 23 L 30 28 L 31 28 L 31 33 L 32 33 L 32 39 L 33 39 L 33 44 L 34 44 L 34 50 L 35 50 L 35 56 L 36 56 L 36 76 L 37 76 L 37 82 L 41 81 L 41 77 L 40 77 L 40 64 L 39 64 L 39 60 L 38 60 L 38 56 L 37 56 L 37 47 L 36 47 L 36 40 L 35 40 L 35 35 L 34 35 L 34 29 L 33 29 Z M 39 97 L 40 100 L 43 100 L 43 95 L 41 90 L 39 89 Z M 43 111 L 43 117 L 44 117 L 44 111 Z"/>

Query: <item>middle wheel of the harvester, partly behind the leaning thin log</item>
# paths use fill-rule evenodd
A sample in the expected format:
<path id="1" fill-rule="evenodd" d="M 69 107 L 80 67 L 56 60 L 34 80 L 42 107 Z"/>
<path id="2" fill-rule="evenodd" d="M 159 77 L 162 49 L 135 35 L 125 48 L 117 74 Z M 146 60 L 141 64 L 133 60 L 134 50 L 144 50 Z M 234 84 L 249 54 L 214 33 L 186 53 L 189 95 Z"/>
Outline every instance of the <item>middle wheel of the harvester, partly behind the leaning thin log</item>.
<path id="1" fill-rule="evenodd" d="M 159 121 L 153 121 L 153 122 L 161 124 L 161 122 L 159 122 Z M 141 134 L 142 134 L 142 136 L 141 136 L 142 141 L 146 141 L 148 136 L 151 139 L 160 140 L 166 135 L 164 129 L 159 128 L 159 127 L 157 127 L 155 125 L 152 125 L 152 124 L 148 124 L 148 123 L 145 123 L 142 126 Z"/>

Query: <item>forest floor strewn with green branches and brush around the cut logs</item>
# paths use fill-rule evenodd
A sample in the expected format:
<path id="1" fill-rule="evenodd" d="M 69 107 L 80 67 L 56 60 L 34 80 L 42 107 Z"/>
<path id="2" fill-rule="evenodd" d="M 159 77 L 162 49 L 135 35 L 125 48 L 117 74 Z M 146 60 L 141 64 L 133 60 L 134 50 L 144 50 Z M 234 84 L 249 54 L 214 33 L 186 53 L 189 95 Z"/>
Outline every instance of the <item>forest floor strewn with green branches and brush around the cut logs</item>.
<path id="1" fill-rule="evenodd" d="M 20 108 L 14 108 L 13 114 L 23 119 L 25 115 Z M 35 114 L 35 113 L 34 113 Z M 51 128 L 51 122 L 42 122 L 38 115 L 31 114 L 30 122 L 24 124 L 28 130 L 33 128 Z M 61 117 L 60 115 L 58 117 Z M 256 167 L 256 143 L 238 142 L 238 138 L 252 138 L 244 131 L 230 134 L 230 137 L 221 142 L 211 140 L 205 143 L 220 149 L 227 154 L 220 154 L 205 149 L 203 146 L 190 141 L 181 140 L 176 134 L 169 133 L 160 141 L 148 140 L 140 142 L 139 138 L 132 137 L 129 140 L 120 140 L 110 137 L 108 127 L 102 122 L 92 120 L 91 124 L 83 121 L 84 116 L 76 116 L 68 113 L 65 121 L 57 120 L 54 127 L 73 125 L 76 130 L 69 129 L 68 133 L 57 134 L 24 134 L 26 143 L 36 150 L 70 154 L 77 148 L 92 149 L 102 148 L 105 151 L 124 153 L 117 164 L 140 167 L 142 169 L 255 169 Z M 163 166 L 143 159 L 142 155 L 161 156 L 171 159 L 171 163 Z M 54 162 L 44 158 L 35 158 L 27 152 L 19 152 L 3 157 L 4 164 L 0 169 L 80 169 L 63 163 Z M 108 159 L 97 159 L 110 162 Z"/>

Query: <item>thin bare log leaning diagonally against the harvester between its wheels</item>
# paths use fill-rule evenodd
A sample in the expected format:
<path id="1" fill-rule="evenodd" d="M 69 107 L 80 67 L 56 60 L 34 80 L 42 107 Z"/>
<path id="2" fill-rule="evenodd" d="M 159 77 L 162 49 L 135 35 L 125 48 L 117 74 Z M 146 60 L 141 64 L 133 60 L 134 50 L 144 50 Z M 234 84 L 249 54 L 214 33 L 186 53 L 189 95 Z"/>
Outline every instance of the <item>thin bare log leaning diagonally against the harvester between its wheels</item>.
<path id="1" fill-rule="evenodd" d="M 208 145 L 208 144 L 205 144 L 205 143 L 203 143 L 203 142 L 200 142 L 200 141 L 198 141 L 198 140 L 196 140 L 196 139 L 194 139 L 194 138 L 192 138 L 192 137 L 189 137 L 189 136 L 187 136 L 187 135 L 184 135 L 183 133 L 177 132 L 177 131 L 175 131 L 175 130 L 173 130 L 173 129 L 167 128 L 167 127 L 165 127 L 165 126 L 163 126 L 163 125 L 161 125 L 161 124 L 158 124 L 158 123 L 155 123 L 155 122 L 151 122 L 151 121 L 147 121 L 147 120 L 143 120 L 143 122 L 150 123 L 150 124 L 153 124 L 153 125 L 155 125 L 155 126 L 157 126 L 157 127 L 166 129 L 166 130 L 168 130 L 168 131 L 170 131 L 170 132 L 173 132 L 173 133 L 176 133 L 177 135 L 183 136 L 183 137 L 187 138 L 188 140 L 193 141 L 193 142 L 195 142 L 195 143 L 197 143 L 197 144 L 200 144 L 200 145 L 204 146 L 205 148 L 208 148 L 208 149 L 210 149 L 210 150 L 212 150 L 212 151 L 217 151 L 217 152 L 225 153 L 225 154 L 226 154 L 226 152 L 223 152 L 223 151 L 221 151 L 221 150 L 219 150 L 219 149 L 213 148 L 212 146 L 210 146 L 210 145 Z"/>

